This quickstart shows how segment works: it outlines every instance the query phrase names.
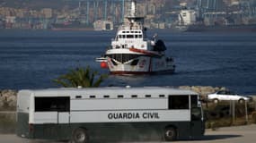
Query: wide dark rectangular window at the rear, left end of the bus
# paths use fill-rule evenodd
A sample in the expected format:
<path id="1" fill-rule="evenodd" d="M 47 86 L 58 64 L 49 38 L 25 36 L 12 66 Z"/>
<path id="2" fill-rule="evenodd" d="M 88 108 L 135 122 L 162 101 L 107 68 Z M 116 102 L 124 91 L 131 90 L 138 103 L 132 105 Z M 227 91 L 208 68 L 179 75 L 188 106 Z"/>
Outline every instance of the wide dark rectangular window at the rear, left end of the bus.
<path id="1" fill-rule="evenodd" d="M 35 112 L 69 112 L 70 97 L 35 97 Z"/>

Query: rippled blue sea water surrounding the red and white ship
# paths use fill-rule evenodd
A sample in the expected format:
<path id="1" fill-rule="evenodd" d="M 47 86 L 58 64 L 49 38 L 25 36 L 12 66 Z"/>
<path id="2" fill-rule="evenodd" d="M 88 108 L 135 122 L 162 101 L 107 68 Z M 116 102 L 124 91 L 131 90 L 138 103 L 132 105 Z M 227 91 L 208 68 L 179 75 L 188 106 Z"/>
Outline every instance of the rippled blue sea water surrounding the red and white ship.
<path id="1" fill-rule="evenodd" d="M 225 86 L 256 93 L 256 33 L 172 33 L 151 31 L 173 55 L 172 75 L 110 76 L 102 86 Z M 57 76 L 95 63 L 115 32 L 0 30 L 0 88 L 53 88 Z"/>

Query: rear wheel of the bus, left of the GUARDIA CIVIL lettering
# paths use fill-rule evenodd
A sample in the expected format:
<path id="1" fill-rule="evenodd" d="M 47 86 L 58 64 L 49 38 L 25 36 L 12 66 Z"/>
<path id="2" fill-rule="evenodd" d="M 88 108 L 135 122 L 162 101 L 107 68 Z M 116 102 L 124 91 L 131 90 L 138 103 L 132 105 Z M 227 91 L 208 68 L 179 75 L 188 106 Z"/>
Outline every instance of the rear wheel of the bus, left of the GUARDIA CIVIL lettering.
<path id="1" fill-rule="evenodd" d="M 72 143 L 88 143 L 89 137 L 87 130 L 77 128 L 72 133 Z"/>

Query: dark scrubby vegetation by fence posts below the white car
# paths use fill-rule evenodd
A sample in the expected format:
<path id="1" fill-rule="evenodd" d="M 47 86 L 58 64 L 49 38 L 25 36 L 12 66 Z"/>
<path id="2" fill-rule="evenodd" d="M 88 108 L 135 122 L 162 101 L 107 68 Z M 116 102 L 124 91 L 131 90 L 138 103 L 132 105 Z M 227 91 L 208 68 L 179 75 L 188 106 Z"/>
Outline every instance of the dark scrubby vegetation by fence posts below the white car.
<path id="1" fill-rule="evenodd" d="M 256 123 L 255 102 L 247 104 L 248 118 L 246 118 L 245 104 L 230 102 L 220 102 L 219 104 L 207 103 L 203 104 L 204 114 L 206 118 L 206 128 L 217 130 L 220 127 L 239 126 L 250 123 Z M 247 120 L 248 119 L 248 120 Z"/>

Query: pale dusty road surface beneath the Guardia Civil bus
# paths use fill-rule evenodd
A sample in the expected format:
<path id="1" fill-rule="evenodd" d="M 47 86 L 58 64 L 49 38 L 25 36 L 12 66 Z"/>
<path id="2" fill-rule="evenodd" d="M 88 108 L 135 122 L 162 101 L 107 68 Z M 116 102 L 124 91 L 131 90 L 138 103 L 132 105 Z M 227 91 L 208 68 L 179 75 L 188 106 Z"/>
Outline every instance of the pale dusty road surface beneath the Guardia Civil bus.
<path id="1" fill-rule="evenodd" d="M 238 127 L 220 128 L 218 130 L 207 130 L 201 139 L 181 140 L 172 143 L 255 143 L 256 124 Z M 13 134 L 0 135 L 0 143 L 54 143 L 42 140 L 20 139 Z M 60 142 L 58 142 L 60 143 Z M 143 142 L 139 142 L 143 143 Z M 145 143 L 159 143 L 157 141 Z"/>

